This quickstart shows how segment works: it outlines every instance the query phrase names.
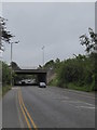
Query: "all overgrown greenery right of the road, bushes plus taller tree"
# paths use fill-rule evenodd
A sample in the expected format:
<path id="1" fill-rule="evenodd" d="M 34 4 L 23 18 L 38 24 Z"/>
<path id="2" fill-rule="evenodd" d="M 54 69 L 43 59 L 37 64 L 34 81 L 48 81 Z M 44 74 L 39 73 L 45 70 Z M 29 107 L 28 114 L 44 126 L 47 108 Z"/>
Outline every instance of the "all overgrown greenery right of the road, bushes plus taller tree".
<path id="1" fill-rule="evenodd" d="M 44 68 L 54 68 L 56 77 L 54 77 L 48 84 L 58 86 L 61 88 L 69 88 L 82 91 L 97 90 L 95 82 L 97 82 L 97 35 L 93 29 L 88 28 L 89 37 L 83 35 L 80 37 L 82 46 L 85 46 L 86 55 L 75 55 L 72 58 L 58 62 L 47 62 Z M 51 66 L 51 67 L 50 67 Z"/>

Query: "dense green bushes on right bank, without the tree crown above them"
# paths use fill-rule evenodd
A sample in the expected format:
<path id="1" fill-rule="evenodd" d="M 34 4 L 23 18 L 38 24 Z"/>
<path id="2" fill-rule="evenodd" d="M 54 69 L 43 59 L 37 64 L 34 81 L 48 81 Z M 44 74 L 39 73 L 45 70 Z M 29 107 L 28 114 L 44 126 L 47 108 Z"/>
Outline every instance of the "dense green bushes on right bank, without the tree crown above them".
<path id="1" fill-rule="evenodd" d="M 95 70 L 97 53 L 75 55 L 63 62 L 54 63 L 56 77 L 50 81 L 50 86 L 70 88 L 82 91 L 94 91 L 97 70 Z M 96 79 L 97 82 L 97 79 Z"/>

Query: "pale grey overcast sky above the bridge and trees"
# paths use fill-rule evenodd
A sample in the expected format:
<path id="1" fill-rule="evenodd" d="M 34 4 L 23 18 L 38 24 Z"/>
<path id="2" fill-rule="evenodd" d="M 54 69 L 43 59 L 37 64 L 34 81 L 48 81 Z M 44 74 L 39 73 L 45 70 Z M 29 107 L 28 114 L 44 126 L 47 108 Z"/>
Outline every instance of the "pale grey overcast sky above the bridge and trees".
<path id="1" fill-rule="evenodd" d="M 95 3 L 22 2 L 3 3 L 3 17 L 8 29 L 15 35 L 13 61 L 20 67 L 38 66 L 50 60 L 65 60 L 83 54 L 79 37 L 95 29 Z M 3 60 L 10 63 L 10 46 L 5 46 Z"/>

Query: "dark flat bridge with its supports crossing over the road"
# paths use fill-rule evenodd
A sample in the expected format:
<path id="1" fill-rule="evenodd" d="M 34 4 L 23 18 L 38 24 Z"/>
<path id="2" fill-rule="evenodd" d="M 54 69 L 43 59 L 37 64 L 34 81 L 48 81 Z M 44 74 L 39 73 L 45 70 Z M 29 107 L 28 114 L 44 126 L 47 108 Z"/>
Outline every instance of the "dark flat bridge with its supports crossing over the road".
<path id="1" fill-rule="evenodd" d="M 37 84 L 39 82 L 45 82 L 46 83 L 46 70 L 44 69 L 19 69 L 19 70 L 14 70 L 16 76 L 20 75 L 36 75 L 37 76 Z M 14 82 L 16 82 L 16 77 L 14 78 Z"/>

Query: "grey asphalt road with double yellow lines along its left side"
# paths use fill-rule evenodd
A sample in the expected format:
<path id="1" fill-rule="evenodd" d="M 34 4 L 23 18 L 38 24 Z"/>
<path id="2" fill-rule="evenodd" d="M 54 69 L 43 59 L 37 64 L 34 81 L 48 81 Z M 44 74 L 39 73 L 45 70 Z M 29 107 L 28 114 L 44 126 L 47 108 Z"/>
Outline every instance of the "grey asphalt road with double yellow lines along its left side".
<path id="1" fill-rule="evenodd" d="M 95 128 L 95 96 L 87 92 L 13 87 L 2 109 L 3 128 Z"/>

